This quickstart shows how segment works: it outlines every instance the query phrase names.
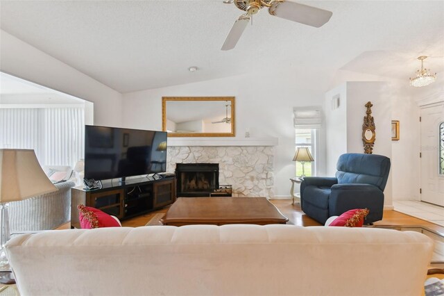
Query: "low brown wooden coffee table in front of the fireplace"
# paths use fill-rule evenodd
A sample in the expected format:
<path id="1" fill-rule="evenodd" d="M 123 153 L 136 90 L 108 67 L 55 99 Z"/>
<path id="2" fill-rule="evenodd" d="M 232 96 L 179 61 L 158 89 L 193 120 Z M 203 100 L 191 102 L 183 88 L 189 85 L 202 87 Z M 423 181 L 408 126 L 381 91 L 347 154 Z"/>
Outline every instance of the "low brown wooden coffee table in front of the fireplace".
<path id="1" fill-rule="evenodd" d="M 164 225 L 285 224 L 288 218 L 266 197 L 179 197 L 160 220 Z"/>

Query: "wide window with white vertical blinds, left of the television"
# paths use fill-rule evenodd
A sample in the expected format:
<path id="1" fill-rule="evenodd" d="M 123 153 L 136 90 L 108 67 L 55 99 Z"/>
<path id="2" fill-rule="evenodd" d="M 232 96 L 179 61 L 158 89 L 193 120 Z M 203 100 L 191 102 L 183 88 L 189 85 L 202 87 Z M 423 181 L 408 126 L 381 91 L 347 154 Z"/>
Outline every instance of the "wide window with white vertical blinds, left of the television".
<path id="1" fill-rule="evenodd" d="M 74 167 L 83 158 L 83 108 L 1 108 L 0 148 L 34 149 L 40 165 Z"/>

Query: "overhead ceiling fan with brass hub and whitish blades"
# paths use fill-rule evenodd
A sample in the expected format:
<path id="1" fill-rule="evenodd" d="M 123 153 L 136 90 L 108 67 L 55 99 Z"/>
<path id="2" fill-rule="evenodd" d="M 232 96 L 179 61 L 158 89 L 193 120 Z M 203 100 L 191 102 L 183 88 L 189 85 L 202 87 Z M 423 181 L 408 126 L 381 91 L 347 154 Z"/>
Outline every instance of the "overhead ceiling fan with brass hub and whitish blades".
<path id="1" fill-rule="evenodd" d="M 328 22 L 332 17 L 331 11 L 287 0 L 225 0 L 223 3 L 234 3 L 237 8 L 246 11 L 246 14 L 236 19 L 223 42 L 221 50 L 224 51 L 236 46 L 250 19 L 253 24 L 253 15 L 264 7 L 268 7 L 268 13 L 271 15 L 316 28 Z"/>

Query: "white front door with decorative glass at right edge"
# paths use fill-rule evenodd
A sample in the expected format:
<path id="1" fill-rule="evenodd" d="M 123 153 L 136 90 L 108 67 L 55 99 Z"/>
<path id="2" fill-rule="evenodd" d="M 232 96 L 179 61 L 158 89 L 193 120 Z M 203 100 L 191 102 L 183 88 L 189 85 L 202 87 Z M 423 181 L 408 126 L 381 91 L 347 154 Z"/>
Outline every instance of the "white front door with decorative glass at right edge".
<path id="1" fill-rule="evenodd" d="M 444 206 L 444 154 L 440 155 L 444 150 L 443 133 L 444 104 L 422 108 L 421 200 L 440 206 Z"/>

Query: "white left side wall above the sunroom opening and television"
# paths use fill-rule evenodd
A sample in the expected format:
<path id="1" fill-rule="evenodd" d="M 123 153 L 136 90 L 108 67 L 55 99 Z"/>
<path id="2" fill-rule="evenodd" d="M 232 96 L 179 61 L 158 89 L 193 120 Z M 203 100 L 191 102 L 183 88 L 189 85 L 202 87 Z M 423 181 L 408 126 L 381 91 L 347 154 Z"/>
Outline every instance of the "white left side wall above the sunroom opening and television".
<path id="1" fill-rule="evenodd" d="M 97 125 L 120 126 L 122 95 L 0 30 L 0 71 L 94 103 Z"/>

